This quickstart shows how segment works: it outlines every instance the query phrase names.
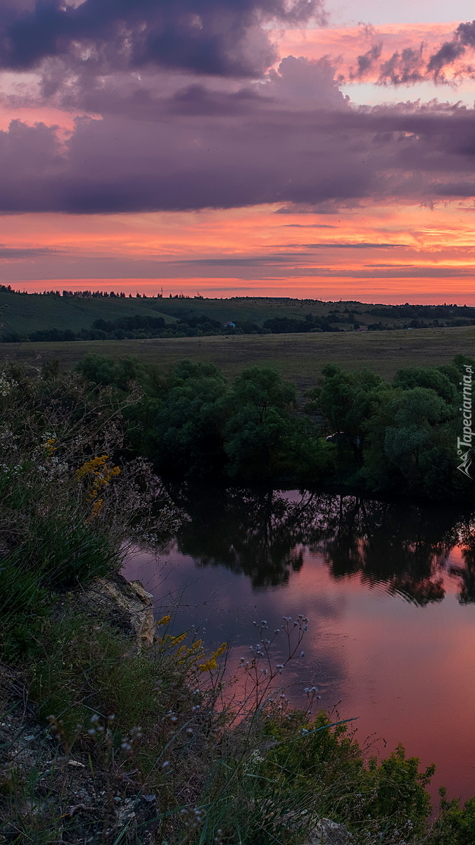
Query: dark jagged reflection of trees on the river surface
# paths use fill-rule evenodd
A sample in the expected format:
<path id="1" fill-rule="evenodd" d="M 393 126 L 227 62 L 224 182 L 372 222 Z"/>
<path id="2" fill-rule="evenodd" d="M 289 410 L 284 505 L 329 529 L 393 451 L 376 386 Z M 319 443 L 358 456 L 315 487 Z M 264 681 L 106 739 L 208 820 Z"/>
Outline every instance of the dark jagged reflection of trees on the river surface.
<path id="1" fill-rule="evenodd" d="M 359 576 L 420 606 L 440 602 L 450 551 L 461 544 L 460 601 L 475 602 L 474 515 L 450 505 L 380 502 L 336 493 L 245 488 L 171 491 L 191 521 L 177 537 L 200 566 L 226 566 L 254 589 L 285 585 L 305 550 L 334 578 Z"/>

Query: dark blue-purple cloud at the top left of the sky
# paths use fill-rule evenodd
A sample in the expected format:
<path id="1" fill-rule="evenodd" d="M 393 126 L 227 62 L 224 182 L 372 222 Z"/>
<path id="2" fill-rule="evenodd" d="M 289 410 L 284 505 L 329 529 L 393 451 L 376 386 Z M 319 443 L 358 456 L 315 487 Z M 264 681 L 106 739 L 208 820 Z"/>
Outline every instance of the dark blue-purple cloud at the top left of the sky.
<path id="1" fill-rule="evenodd" d="M 275 58 L 262 29 L 323 18 L 321 0 L 63 0 L 2 3 L 0 63 L 26 69 L 50 57 L 101 71 L 149 64 L 199 74 L 254 75 Z"/>

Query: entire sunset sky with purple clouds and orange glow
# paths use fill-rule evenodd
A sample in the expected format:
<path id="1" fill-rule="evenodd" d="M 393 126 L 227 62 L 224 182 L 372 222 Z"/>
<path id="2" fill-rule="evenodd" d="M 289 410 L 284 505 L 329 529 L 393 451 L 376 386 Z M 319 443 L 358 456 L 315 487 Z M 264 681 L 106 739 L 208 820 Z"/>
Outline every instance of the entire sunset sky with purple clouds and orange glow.
<path id="1" fill-rule="evenodd" d="M 0 0 L 0 282 L 475 304 L 468 0 Z"/>

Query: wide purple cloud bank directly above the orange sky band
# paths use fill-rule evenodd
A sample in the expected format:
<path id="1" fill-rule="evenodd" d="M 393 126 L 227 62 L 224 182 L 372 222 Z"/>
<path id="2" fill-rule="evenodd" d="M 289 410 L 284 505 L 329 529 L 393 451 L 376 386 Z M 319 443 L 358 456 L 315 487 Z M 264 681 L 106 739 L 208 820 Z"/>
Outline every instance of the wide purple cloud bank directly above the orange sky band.
<path id="1" fill-rule="evenodd" d="M 14 121 L 0 132 L 0 210 L 336 210 L 366 199 L 475 195 L 475 112 L 436 103 L 352 108 L 325 60 L 288 57 L 280 73 L 242 91 L 187 85 L 154 109 L 81 118 L 66 141 Z"/>

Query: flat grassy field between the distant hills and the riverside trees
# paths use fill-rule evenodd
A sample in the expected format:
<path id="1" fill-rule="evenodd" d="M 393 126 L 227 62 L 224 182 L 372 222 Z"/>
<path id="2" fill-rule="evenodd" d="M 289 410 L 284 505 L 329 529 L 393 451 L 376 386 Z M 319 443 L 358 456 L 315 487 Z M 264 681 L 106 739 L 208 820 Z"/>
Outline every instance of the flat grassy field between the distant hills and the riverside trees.
<path id="1" fill-rule="evenodd" d="M 109 357 L 133 355 L 166 371 L 177 361 L 216 363 L 232 377 L 243 367 L 276 368 L 298 390 L 308 390 L 326 363 L 347 369 L 368 367 L 391 378 L 401 367 L 447 363 L 454 355 L 475 356 L 475 326 L 446 329 L 348 332 L 297 335 L 235 335 L 148 341 L 76 341 L 4 343 L 0 361 L 22 361 L 35 368 L 57 358 L 72 368 L 87 352 Z"/>

